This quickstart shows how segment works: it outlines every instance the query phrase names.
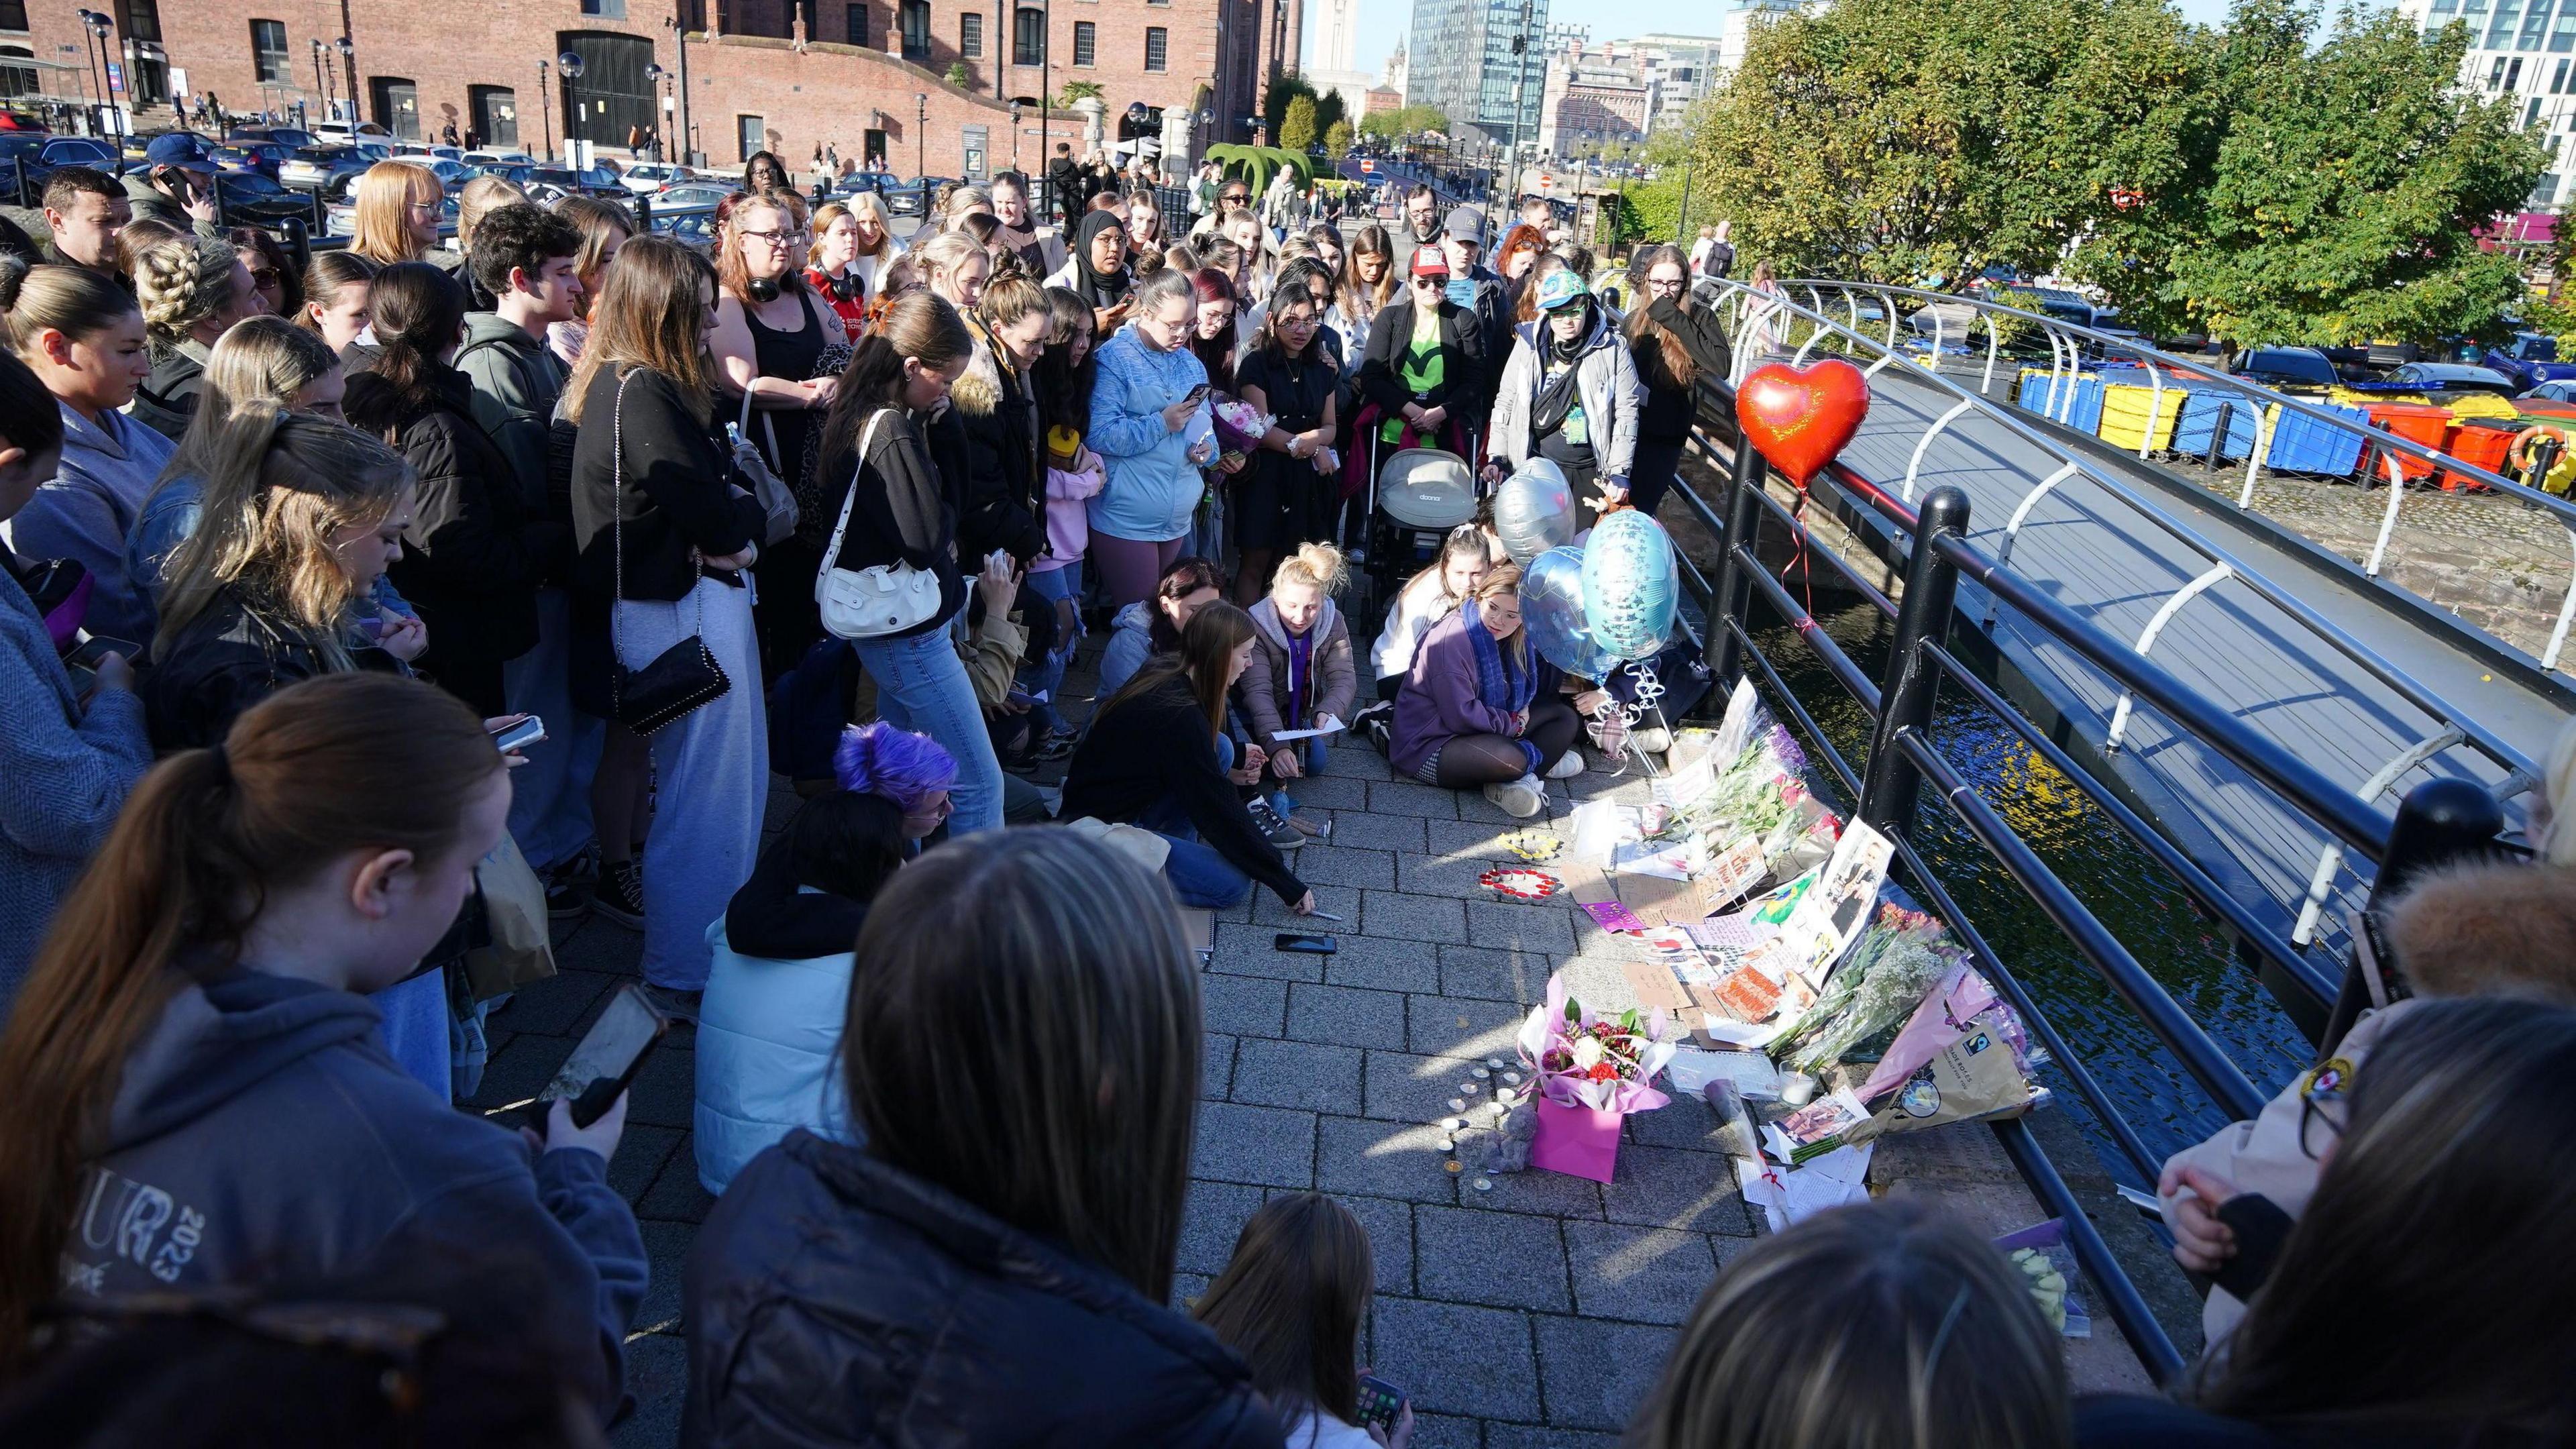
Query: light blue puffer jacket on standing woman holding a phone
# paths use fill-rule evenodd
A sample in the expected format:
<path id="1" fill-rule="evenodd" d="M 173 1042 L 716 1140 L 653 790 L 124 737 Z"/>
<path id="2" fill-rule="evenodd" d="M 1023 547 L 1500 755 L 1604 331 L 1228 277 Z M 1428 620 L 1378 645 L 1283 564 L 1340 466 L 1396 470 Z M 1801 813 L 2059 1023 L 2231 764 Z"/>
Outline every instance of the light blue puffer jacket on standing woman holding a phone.
<path id="1" fill-rule="evenodd" d="M 1103 343 L 1084 441 L 1108 462 L 1108 487 L 1090 500 L 1092 531 L 1162 544 L 1190 531 L 1208 482 L 1190 462 L 1190 443 L 1213 433 L 1208 405 L 1167 431 L 1162 410 L 1208 382 L 1190 348 L 1157 351 L 1133 327 Z"/>

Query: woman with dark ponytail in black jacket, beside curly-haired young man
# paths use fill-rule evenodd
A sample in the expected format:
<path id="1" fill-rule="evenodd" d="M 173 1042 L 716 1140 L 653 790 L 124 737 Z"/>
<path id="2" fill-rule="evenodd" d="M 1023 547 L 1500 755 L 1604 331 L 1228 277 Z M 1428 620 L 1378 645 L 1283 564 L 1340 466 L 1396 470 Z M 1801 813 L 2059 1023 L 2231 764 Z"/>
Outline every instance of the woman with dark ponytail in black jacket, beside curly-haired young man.
<path id="1" fill-rule="evenodd" d="M 420 668 L 477 714 L 507 714 L 502 665 L 536 647 L 536 585 L 569 565 L 569 529 L 528 518 L 507 454 L 474 420 L 474 382 L 456 371 L 464 286 L 407 260 L 376 273 L 366 307 L 376 358 L 348 379 L 345 410 L 420 490 L 412 549 L 392 567 L 430 627 Z"/>

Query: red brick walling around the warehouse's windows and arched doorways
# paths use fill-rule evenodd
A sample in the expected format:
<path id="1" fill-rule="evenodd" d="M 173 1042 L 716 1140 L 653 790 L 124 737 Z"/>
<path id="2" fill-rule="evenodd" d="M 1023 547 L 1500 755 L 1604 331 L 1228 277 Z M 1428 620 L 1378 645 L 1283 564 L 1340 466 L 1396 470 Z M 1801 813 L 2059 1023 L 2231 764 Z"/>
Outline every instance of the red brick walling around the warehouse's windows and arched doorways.
<path id="1" fill-rule="evenodd" d="M 0 34 L 0 44 L 26 44 L 39 57 L 54 57 L 57 44 L 82 41 L 75 10 L 93 0 L 28 0 L 31 31 L 21 39 Z M 1188 106 L 1200 85 L 1216 83 L 1218 70 L 1218 13 L 1229 0 L 1054 0 L 1048 80 L 1061 88 L 1069 80 L 1092 80 L 1103 88 L 1110 108 L 1110 137 L 1115 116 L 1131 101 L 1146 106 Z M 940 80 L 958 59 L 958 15 L 966 8 L 984 15 L 984 57 L 969 64 L 969 88 Z M 562 147 L 562 90 L 554 83 L 546 108 L 538 106 L 536 62 L 551 59 L 564 31 L 621 31 L 649 39 L 654 62 L 677 70 L 677 52 L 667 21 L 672 0 L 626 0 L 626 18 L 582 15 L 580 0 L 345 0 L 348 36 L 355 44 L 355 95 L 361 113 L 368 113 L 371 77 L 397 75 L 410 80 L 420 95 L 425 134 L 438 134 L 448 121 L 459 131 L 469 121 L 469 85 L 507 85 L 515 90 L 520 113 L 520 147 L 544 147 L 546 116 L 556 147 Z M 113 10 L 113 8 L 108 8 Z M 696 0 L 693 15 L 714 5 Z M 773 147 L 791 162 L 814 152 L 817 142 L 840 147 L 840 155 L 858 157 L 863 131 L 886 131 L 889 165 L 909 173 L 914 155 L 925 157 L 933 175 L 961 170 L 963 126 L 987 126 L 989 168 L 1012 165 L 1010 111 L 992 93 L 992 70 L 1010 59 L 1010 21 L 994 0 L 933 0 L 927 64 L 907 64 L 886 54 L 896 31 L 896 0 L 868 0 L 868 52 L 842 44 L 848 34 L 845 0 L 819 0 L 814 28 L 804 52 L 791 41 L 773 39 L 788 31 L 791 0 L 724 0 L 721 39 L 696 36 L 688 44 L 690 119 L 698 129 L 698 147 L 711 165 L 732 165 L 737 155 L 737 116 L 762 116 L 775 131 Z M 322 113 L 322 95 L 312 77 L 312 41 L 325 44 L 340 36 L 343 0 L 160 0 L 162 46 L 167 62 L 188 75 L 196 93 L 211 90 L 232 111 L 263 106 L 291 106 L 307 101 L 312 113 Z M 283 21 L 291 57 L 294 88 L 268 88 L 263 93 L 252 75 L 250 21 Z M 716 18 L 716 15 L 708 15 Z M 1097 26 L 1095 64 L 1074 67 L 1074 23 Z M 1167 70 L 1144 70 L 1144 31 L 1162 26 L 1170 31 Z M 752 34 L 757 31 L 757 34 Z M 348 95 L 348 77 L 335 72 L 330 88 Z M 1038 67 L 1007 67 L 1005 95 L 1036 101 Z M 930 98 L 927 126 L 917 124 L 914 95 Z M 1213 106 L 1224 116 L 1224 106 Z M 147 121 L 149 124 L 149 121 Z M 917 134 L 920 131 L 920 134 Z M 1038 134 L 1036 106 L 1020 126 L 1020 162 L 1043 165 L 1048 147 Z M 623 144 L 623 134 L 616 137 Z M 1079 121 L 1056 111 L 1054 139 L 1072 139 L 1079 147 Z M 603 139 L 605 144 L 605 139 Z"/>

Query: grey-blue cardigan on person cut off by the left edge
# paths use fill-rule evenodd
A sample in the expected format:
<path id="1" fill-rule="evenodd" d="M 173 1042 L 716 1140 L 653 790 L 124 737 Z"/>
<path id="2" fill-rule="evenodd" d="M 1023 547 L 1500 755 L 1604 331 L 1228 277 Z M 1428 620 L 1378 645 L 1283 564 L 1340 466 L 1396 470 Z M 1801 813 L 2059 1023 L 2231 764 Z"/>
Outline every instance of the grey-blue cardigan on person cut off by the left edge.
<path id="1" fill-rule="evenodd" d="M 126 792 L 152 766 L 144 706 L 103 688 L 82 712 L 36 601 L 0 567 L 0 1018 L 44 928 Z"/>

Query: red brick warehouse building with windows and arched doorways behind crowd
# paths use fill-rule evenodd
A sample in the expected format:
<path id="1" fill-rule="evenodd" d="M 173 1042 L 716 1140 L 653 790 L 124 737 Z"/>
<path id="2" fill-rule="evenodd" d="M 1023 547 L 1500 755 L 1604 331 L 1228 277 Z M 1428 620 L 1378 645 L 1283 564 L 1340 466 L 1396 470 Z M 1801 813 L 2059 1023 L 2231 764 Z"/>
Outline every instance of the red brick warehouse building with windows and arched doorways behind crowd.
<path id="1" fill-rule="evenodd" d="M 556 155 L 567 108 L 600 147 L 657 124 L 677 137 L 685 113 L 708 165 L 768 147 L 801 170 L 829 142 L 907 175 L 1043 168 L 1038 95 L 1061 101 L 1069 83 L 1100 88 L 1110 142 L 1159 139 L 1164 108 L 1193 106 L 1193 150 L 1244 139 L 1270 75 L 1296 64 L 1280 44 L 1301 21 L 1301 0 L 0 0 L 0 72 L 10 54 L 41 57 L 46 90 L 70 93 L 57 72 L 85 54 L 85 8 L 113 26 L 106 46 L 144 129 L 167 124 L 180 88 L 317 119 L 355 98 L 399 137 L 453 124 Z M 562 77 L 562 52 L 582 57 L 580 80 Z M 945 80 L 953 64 L 963 85 Z M 1051 139 L 1082 147 L 1082 116 L 1051 121 Z"/>

